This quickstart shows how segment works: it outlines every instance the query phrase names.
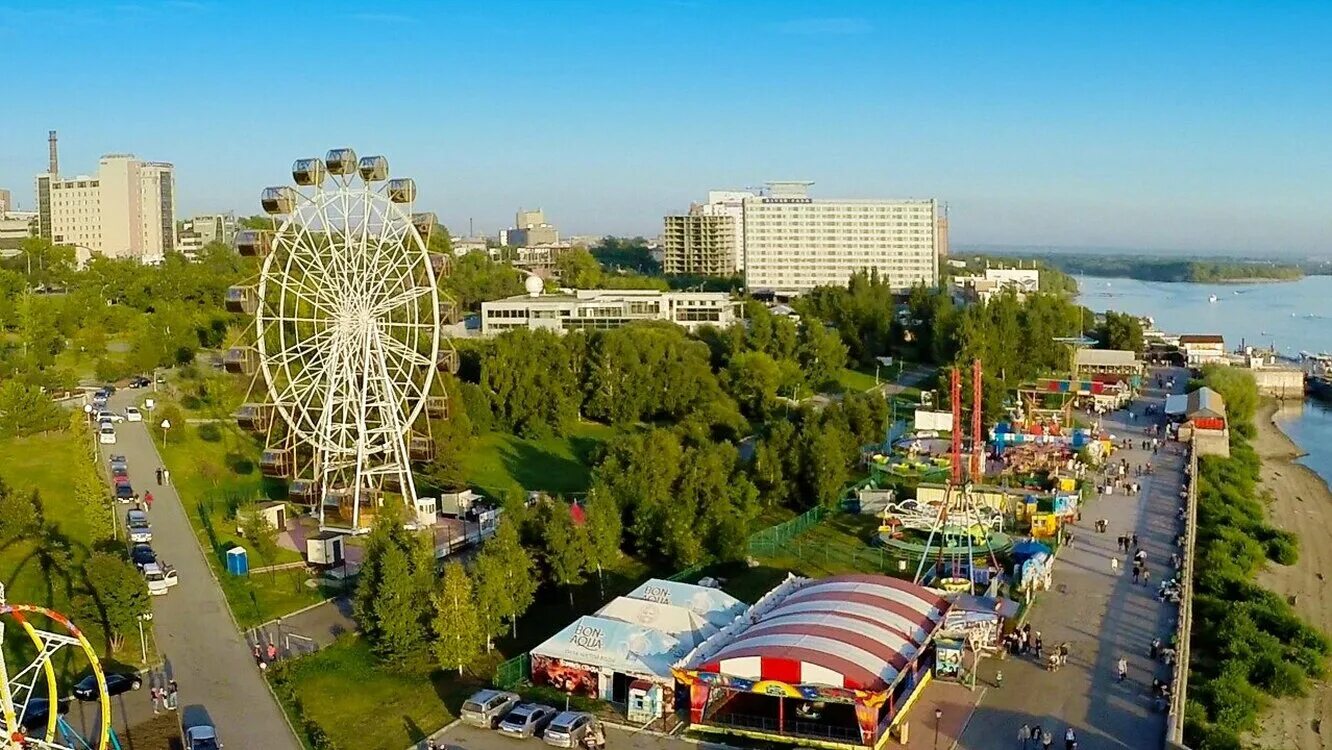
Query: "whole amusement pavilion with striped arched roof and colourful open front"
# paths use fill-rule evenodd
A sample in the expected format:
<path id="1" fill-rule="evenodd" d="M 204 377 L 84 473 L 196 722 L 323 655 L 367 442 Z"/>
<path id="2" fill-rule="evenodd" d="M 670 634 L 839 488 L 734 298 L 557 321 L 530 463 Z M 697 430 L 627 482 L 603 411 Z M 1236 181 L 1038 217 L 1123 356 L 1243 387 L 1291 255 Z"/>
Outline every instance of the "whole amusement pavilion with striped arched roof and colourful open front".
<path id="1" fill-rule="evenodd" d="M 693 729 L 879 747 L 931 678 L 948 607 L 887 575 L 791 575 L 677 663 Z"/>

